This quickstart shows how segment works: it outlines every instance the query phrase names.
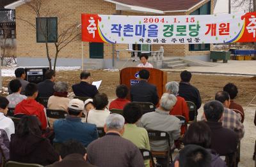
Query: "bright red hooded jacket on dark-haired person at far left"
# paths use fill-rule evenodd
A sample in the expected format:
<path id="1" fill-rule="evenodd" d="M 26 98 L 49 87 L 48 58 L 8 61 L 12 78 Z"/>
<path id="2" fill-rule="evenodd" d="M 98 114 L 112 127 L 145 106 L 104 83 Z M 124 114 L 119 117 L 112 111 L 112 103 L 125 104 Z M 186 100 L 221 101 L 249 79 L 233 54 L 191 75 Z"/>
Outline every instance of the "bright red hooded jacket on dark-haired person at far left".
<path id="1" fill-rule="evenodd" d="M 42 129 L 46 129 L 47 127 L 45 108 L 35 101 L 35 99 L 24 99 L 17 104 L 15 106 L 14 115 L 17 114 L 35 115 L 40 120 Z"/>

